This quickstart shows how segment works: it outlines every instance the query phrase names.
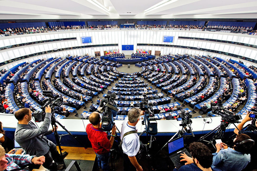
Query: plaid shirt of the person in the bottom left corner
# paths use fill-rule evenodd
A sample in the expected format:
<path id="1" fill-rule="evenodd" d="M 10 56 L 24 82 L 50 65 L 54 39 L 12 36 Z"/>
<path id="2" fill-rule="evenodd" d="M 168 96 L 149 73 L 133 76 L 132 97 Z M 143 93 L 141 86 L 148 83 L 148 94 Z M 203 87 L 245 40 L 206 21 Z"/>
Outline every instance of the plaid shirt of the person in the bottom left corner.
<path id="1" fill-rule="evenodd" d="M 26 155 L 19 155 L 19 154 L 5 154 L 5 159 L 8 161 L 7 167 L 5 170 L 13 170 L 16 168 L 21 168 L 20 166 L 26 164 L 32 164 L 31 160 L 36 156 Z M 27 171 L 23 169 L 21 171 Z"/>

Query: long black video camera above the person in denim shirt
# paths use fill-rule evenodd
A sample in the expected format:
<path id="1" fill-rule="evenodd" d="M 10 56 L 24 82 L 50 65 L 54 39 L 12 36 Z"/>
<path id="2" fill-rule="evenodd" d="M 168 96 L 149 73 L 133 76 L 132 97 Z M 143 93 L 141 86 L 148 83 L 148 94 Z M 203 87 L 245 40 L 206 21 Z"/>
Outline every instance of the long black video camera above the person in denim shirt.
<path id="1" fill-rule="evenodd" d="M 241 115 L 235 115 L 234 112 L 227 110 L 221 106 L 213 106 L 212 113 L 221 116 L 222 120 L 227 123 L 240 123 L 240 119 L 242 119 Z"/>

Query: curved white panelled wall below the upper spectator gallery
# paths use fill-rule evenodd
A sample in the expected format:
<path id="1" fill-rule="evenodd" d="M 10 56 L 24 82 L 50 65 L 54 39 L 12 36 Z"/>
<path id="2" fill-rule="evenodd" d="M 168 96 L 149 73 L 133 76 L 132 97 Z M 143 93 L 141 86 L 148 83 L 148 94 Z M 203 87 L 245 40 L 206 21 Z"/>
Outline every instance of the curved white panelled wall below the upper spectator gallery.
<path id="1" fill-rule="evenodd" d="M 163 36 L 174 36 L 173 43 L 163 43 Z M 100 54 L 103 55 L 103 51 L 108 49 L 119 49 L 121 52 L 122 45 L 134 45 L 134 53 L 137 48 L 142 48 L 145 50 L 152 50 L 154 54 L 155 50 L 161 51 L 162 55 L 165 54 L 200 54 L 207 55 L 212 54 L 209 52 L 201 52 L 192 49 L 181 49 L 181 48 L 171 48 L 171 47 L 152 47 L 152 46 L 137 46 L 137 43 L 144 44 L 163 44 L 163 45 L 180 45 L 180 46 L 190 46 L 190 47 L 201 47 L 206 49 L 212 49 L 227 53 L 232 53 L 235 55 L 245 56 L 248 58 L 257 60 L 257 49 L 247 46 L 240 46 L 227 43 L 211 42 L 211 41 L 199 41 L 199 40 L 185 40 L 178 39 L 178 36 L 185 37 L 200 37 L 200 38 L 210 38 L 210 39 L 220 39 L 241 43 L 249 43 L 252 45 L 257 45 L 257 38 L 254 35 L 243 35 L 235 33 L 213 33 L 213 32 L 204 32 L 204 31 L 178 31 L 178 30 L 104 30 L 104 31 L 70 31 L 70 32 L 53 32 L 53 33 L 38 33 L 38 34 L 28 34 L 28 35 L 17 35 L 17 36 L 8 36 L 0 38 L 0 46 L 8 46 L 25 42 L 34 42 L 40 40 L 48 39 L 58 39 L 58 38 L 68 38 L 68 37 L 77 37 L 75 41 L 62 41 L 62 42 L 48 42 L 41 44 L 34 44 L 29 46 L 21 46 L 10 49 L 5 49 L 0 51 L 0 62 L 8 61 L 13 58 L 20 56 L 25 56 L 33 53 L 43 52 L 53 50 L 54 48 L 68 48 L 82 45 L 81 37 L 82 36 L 91 36 L 92 45 L 99 44 L 118 44 L 116 47 L 94 47 L 94 48 L 85 48 L 85 49 L 74 49 L 69 51 L 61 51 L 54 53 L 53 56 L 66 56 L 70 55 L 84 55 L 88 53 L 89 55 L 94 55 L 95 51 L 100 51 Z M 131 54 L 132 51 L 123 51 L 123 53 Z M 202 53 L 202 54 L 201 54 Z M 49 56 L 49 55 L 48 55 Z M 219 55 L 221 56 L 221 55 Z M 225 56 L 225 55 L 223 55 Z M 221 56 L 222 57 L 222 56 Z"/>

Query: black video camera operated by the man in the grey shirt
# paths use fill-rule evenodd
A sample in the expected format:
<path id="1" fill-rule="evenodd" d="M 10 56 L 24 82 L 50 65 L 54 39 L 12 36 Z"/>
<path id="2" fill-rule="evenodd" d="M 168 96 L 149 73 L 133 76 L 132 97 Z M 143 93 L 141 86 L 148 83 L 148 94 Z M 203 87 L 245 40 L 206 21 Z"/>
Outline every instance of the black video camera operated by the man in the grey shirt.
<path id="1" fill-rule="evenodd" d="M 52 115 L 56 112 L 56 106 L 61 106 L 62 104 L 62 98 L 59 97 L 59 95 L 56 95 L 55 97 L 53 96 L 53 92 L 52 91 L 43 91 L 43 95 L 48 97 L 45 98 L 42 103 L 44 104 L 43 106 L 41 106 L 42 111 L 40 112 L 39 110 L 36 110 L 35 112 L 33 112 L 33 116 L 35 118 L 35 122 L 42 122 L 45 119 L 45 107 L 46 106 L 50 106 L 51 108 L 51 113 Z"/>

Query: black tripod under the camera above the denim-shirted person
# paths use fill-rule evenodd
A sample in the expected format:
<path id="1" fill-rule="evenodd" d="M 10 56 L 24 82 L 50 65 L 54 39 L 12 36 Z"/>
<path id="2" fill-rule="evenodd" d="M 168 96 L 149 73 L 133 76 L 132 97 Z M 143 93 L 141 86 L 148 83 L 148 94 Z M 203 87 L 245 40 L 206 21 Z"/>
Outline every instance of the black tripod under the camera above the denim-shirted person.
<path id="1" fill-rule="evenodd" d="M 235 125 L 235 123 L 233 123 Z M 210 131 L 209 133 L 207 133 L 206 135 L 202 136 L 200 139 L 197 140 L 197 142 L 199 141 L 205 141 L 208 142 L 208 144 L 212 144 L 213 147 L 216 149 L 215 145 L 213 144 L 215 139 L 222 139 L 224 137 L 224 132 L 226 131 L 228 125 L 230 125 L 230 123 L 222 120 L 221 124 L 219 126 L 217 126 L 216 128 L 214 128 L 212 131 Z M 235 125 L 236 127 L 236 125 Z M 236 127 L 237 128 L 237 127 Z M 237 128 L 238 129 L 238 128 Z M 239 129 L 238 129 L 239 130 Z M 214 136 L 212 137 L 212 139 L 210 141 L 205 140 L 209 135 L 211 135 L 212 133 L 214 133 Z M 241 131 L 239 130 L 239 132 L 241 133 Z"/>

